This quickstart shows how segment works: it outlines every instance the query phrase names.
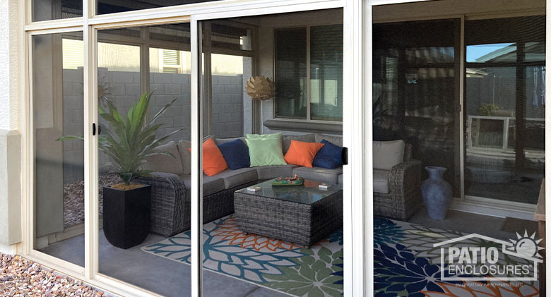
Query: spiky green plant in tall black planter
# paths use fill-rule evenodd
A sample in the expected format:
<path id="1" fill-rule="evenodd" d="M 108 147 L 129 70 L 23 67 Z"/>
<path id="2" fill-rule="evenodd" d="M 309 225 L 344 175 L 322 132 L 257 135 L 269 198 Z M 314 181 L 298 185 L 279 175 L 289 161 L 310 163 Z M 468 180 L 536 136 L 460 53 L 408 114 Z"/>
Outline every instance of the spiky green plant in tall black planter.
<path id="1" fill-rule="evenodd" d="M 146 159 L 156 154 L 172 156 L 169 152 L 155 150 L 166 142 L 178 129 L 161 138 L 156 133 L 162 124 L 155 124 L 165 111 L 176 101 L 172 100 L 151 119 L 147 118 L 151 94 L 143 94 L 130 107 L 126 119 L 115 104 L 102 100 L 100 117 L 108 126 L 102 128 L 98 141 L 101 152 L 112 159 L 112 166 L 122 178 L 122 183 L 103 188 L 103 231 L 107 241 L 117 248 L 131 248 L 142 243 L 149 234 L 151 186 L 133 182 L 134 179 L 150 174 L 143 170 Z M 83 136 L 65 136 L 59 140 L 83 139 Z M 174 157 L 174 156 L 172 156 Z"/>

